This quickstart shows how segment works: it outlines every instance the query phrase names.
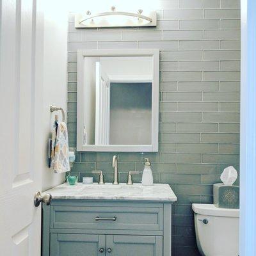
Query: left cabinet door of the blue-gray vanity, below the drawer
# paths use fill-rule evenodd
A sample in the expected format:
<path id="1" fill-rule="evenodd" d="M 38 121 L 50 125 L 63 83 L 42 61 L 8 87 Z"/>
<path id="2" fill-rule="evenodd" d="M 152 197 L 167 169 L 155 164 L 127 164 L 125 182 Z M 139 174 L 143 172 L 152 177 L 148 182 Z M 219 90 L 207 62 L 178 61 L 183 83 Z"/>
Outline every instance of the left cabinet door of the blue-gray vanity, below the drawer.
<path id="1" fill-rule="evenodd" d="M 50 256 L 106 256 L 106 236 L 51 234 L 50 247 Z"/>

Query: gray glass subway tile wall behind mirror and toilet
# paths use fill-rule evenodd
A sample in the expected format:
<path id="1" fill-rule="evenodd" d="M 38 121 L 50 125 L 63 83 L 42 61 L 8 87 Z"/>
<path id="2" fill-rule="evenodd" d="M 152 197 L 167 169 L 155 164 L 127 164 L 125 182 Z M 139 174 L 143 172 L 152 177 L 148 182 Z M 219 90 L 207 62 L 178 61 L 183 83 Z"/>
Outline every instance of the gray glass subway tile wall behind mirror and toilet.
<path id="1" fill-rule="evenodd" d="M 199 255 L 192 203 L 212 203 L 223 168 L 239 168 L 240 6 L 238 0 L 156 0 L 156 28 L 75 29 L 68 22 L 68 131 L 76 147 L 77 49 L 160 49 L 159 152 L 81 152 L 73 173 L 103 170 L 120 181 L 152 161 L 155 182 L 172 186 L 173 255 Z M 143 6 L 142 6 L 143 7 Z M 97 179 L 97 177 L 95 177 Z M 141 175 L 134 175 L 140 182 Z M 239 183 L 237 180 L 236 184 Z"/>

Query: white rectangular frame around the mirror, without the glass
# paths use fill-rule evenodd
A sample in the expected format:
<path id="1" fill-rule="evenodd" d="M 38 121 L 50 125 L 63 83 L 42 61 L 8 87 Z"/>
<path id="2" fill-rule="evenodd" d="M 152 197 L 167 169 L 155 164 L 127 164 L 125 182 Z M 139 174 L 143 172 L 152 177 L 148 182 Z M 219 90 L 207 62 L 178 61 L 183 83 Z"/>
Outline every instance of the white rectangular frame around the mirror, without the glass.
<path id="1" fill-rule="evenodd" d="M 85 76 L 84 58 L 86 57 L 152 57 L 152 135 L 151 145 L 86 145 L 84 144 L 85 124 Z M 112 77 L 113 78 L 113 77 Z M 115 78 L 115 77 L 114 77 Z M 117 77 L 120 79 L 120 77 Z M 134 77 L 132 77 L 134 80 Z M 115 79 L 114 79 L 115 80 Z M 118 80 L 117 80 L 118 81 Z M 135 81 L 135 80 L 134 80 Z M 157 152 L 159 125 L 159 49 L 102 49 L 77 51 L 77 151 L 97 152 Z"/>

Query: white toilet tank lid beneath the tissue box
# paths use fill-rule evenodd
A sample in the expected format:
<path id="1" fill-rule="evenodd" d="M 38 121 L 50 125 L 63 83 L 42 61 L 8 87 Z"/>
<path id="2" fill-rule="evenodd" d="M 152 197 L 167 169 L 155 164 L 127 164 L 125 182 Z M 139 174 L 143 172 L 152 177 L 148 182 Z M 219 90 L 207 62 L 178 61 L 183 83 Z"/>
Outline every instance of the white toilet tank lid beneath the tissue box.
<path id="1" fill-rule="evenodd" d="M 239 209 L 218 208 L 214 204 L 192 204 L 195 213 L 221 216 L 221 217 L 239 217 Z"/>

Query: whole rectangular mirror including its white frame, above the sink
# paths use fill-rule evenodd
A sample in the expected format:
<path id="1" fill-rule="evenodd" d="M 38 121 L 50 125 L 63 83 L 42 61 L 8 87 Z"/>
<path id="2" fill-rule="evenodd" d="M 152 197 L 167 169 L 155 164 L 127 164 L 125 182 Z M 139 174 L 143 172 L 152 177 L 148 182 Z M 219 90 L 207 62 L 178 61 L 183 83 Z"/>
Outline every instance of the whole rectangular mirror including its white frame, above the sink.
<path id="1" fill-rule="evenodd" d="M 159 50 L 77 51 L 77 150 L 157 152 Z"/>

